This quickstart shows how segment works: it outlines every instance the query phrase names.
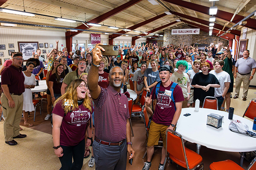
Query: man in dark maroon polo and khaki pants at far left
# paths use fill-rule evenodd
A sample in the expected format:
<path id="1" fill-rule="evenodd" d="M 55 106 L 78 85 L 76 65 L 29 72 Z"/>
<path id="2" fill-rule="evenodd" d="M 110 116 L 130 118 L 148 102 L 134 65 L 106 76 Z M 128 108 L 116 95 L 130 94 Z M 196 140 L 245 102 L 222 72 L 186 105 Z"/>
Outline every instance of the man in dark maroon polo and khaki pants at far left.
<path id="1" fill-rule="evenodd" d="M 8 145 L 17 145 L 15 138 L 25 138 L 27 135 L 19 133 L 19 122 L 22 116 L 23 95 L 25 91 L 22 73 L 22 53 L 17 52 L 12 59 L 12 65 L 4 68 L 2 72 L 1 87 L 3 94 L 1 102 L 4 114 L 4 139 Z"/>

